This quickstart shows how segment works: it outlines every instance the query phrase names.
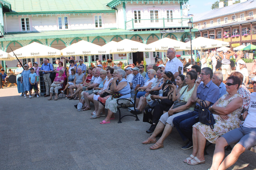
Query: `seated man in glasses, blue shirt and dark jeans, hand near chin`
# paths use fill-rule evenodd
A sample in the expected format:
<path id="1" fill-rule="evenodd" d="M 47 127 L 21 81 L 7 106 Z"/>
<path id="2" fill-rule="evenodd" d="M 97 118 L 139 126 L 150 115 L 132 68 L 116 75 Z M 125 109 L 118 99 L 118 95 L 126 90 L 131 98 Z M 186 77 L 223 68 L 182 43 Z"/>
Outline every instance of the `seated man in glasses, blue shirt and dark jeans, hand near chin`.
<path id="1" fill-rule="evenodd" d="M 200 101 L 204 100 L 207 106 L 212 106 L 219 98 L 219 87 L 212 82 L 213 72 L 209 67 L 201 70 L 200 78 L 195 81 L 195 89 L 191 95 L 191 101 L 196 102 L 192 112 L 177 116 L 173 119 L 173 124 L 177 128 L 183 140 L 189 140 L 183 150 L 193 147 L 192 126 L 198 122 L 198 109 Z M 201 83 L 201 81 L 203 83 Z"/>

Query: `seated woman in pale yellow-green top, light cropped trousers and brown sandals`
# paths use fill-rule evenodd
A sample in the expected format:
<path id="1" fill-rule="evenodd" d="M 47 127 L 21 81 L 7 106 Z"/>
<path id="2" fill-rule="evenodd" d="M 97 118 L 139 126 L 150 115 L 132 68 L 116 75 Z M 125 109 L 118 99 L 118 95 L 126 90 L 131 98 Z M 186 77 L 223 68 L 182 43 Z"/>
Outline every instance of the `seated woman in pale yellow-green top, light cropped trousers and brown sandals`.
<path id="1" fill-rule="evenodd" d="M 159 119 L 159 122 L 155 128 L 155 131 L 147 140 L 143 142 L 143 144 L 155 143 L 155 145 L 150 147 L 150 149 L 152 150 L 163 148 L 163 141 L 171 133 L 174 127 L 172 123 L 172 120 L 174 119 L 174 117 L 182 114 L 186 114 L 194 110 L 195 105 L 190 100 L 190 96 L 192 95 L 195 89 L 196 79 L 197 79 L 197 73 L 195 71 L 192 70 L 190 72 L 187 72 L 187 75 L 185 77 L 185 82 L 187 83 L 187 85 L 184 86 L 180 90 L 179 94 L 177 95 L 177 99 L 179 102 L 187 102 L 187 103 L 175 109 L 173 109 L 173 106 L 172 106 L 168 112 L 163 114 Z M 163 135 L 160 137 L 158 141 L 156 141 L 155 137 L 161 132 L 163 132 Z"/>

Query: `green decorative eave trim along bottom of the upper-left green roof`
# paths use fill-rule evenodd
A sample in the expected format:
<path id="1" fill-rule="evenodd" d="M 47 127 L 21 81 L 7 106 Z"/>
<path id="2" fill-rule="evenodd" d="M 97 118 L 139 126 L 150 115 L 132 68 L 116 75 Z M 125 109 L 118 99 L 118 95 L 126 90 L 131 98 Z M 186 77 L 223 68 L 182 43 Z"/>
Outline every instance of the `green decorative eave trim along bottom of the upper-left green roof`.
<path id="1" fill-rule="evenodd" d="M 57 12 L 57 11 L 49 11 L 49 12 L 41 12 L 41 11 L 38 11 L 38 12 L 6 12 L 5 15 L 7 17 L 9 16 L 23 16 L 23 15 L 31 15 L 32 17 L 33 16 L 52 16 L 52 15 L 58 15 L 58 14 L 69 14 L 69 15 L 75 15 L 75 14 L 97 14 L 97 13 L 112 13 L 112 14 L 115 14 L 115 10 L 114 9 L 110 9 L 110 10 L 104 10 L 104 11 L 60 11 L 60 12 Z"/>

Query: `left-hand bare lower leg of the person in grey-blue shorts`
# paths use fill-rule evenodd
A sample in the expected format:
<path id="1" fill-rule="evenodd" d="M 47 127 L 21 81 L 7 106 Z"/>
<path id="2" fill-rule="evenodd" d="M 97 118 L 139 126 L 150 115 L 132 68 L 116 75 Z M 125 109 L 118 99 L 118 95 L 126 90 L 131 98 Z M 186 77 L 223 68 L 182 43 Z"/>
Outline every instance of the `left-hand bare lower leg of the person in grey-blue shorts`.
<path id="1" fill-rule="evenodd" d="M 212 158 L 212 166 L 210 168 L 211 170 L 219 169 L 220 163 L 225 156 L 225 146 L 228 146 L 228 143 L 224 137 L 220 137 L 216 140 L 215 150 Z"/>

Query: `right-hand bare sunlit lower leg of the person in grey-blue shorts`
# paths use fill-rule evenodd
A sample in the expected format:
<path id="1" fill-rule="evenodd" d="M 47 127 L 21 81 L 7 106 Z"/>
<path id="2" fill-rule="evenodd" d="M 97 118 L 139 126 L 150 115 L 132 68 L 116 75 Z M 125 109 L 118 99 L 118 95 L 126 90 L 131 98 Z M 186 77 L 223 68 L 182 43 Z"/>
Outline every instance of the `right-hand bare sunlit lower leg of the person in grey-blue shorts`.
<path id="1" fill-rule="evenodd" d="M 241 144 L 236 144 L 232 149 L 231 153 L 224 159 L 220 164 L 219 170 L 224 170 L 236 163 L 238 157 L 245 151 L 245 148 Z"/>

